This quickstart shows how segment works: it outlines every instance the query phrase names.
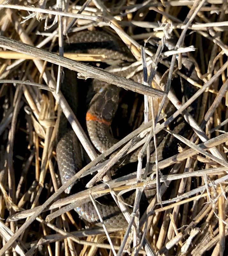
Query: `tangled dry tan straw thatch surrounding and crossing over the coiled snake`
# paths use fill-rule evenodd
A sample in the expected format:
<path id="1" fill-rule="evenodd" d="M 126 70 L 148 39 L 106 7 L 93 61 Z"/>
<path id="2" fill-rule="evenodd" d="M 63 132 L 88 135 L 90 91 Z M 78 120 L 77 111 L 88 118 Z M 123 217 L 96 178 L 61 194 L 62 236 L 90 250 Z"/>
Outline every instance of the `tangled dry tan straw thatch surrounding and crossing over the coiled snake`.
<path id="1" fill-rule="evenodd" d="M 124 251 L 133 255 L 227 255 L 227 2 L 16 2 L 18 5 L 0 1 L 0 255 L 121 255 Z M 147 96 L 166 95 L 146 87 L 146 83 L 140 85 L 125 78 L 114 79 L 108 72 L 92 66 L 88 68 L 80 62 L 102 62 L 106 56 L 64 53 L 63 57 L 63 36 L 98 27 L 117 34 L 138 60 L 136 67 L 142 66 L 143 59 L 143 67 L 147 67 L 148 73 L 157 69 L 164 55 L 161 52 L 154 55 L 141 46 L 143 41 L 158 38 L 162 47 L 170 35 L 176 36 L 179 39 L 176 51 L 168 52 L 172 60 L 163 62 L 169 68 L 166 92 L 172 84 L 174 71 L 188 79 L 176 65 L 181 65 L 181 54 L 176 61 L 177 54 L 183 52 L 180 48 L 187 45 L 185 50 L 195 61 L 200 78 L 198 82 L 188 79 L 192 86 L 200 88 L 191 98 L 193 101 L 202 96 L 198 119 L 191 119 L 184 112 L 190 101 L 180 105 L 174 96 L 168 95 L 177 111 L 167 116 L 161 126 L 155 127 L 153 117 L 98 156 L 63 95 L 58 93 L 61 66 L 79 72 L 81 78 L 106 82 L 113 79 L 114 84 L 145 95 L 145 100 Z M 50 53 L 56 44 L 60 46 L 59 55 Z M 57 77 L 50 63 L 61 65 Z M 91 160 L 65 186 L 59 182 L 55 160 L 57 104 L 71 120 Z M 131 115 L 132 120 L 135 112 Z M 153 134 L 165 129 L 180 113 L 185 113 L 186 121 L 194 130 L 189 140 L 167 130 L 186 145 L 180 153 L 158 164 L 146 165 L 149 166 L 146 177 L 143 177 L 142 156 L 138 157 L 137 172 L 133 170 L 131 178 L 110 180 L 104 176 L 111 164 L 108 156 L 112 152 L 130 141 L 119 151 L 120 155 L 125 154 L 132 139 L 141 133 L 137 147 L 144 145 L 148 153 L 147 141 L 156 139 Z M 139 120 L 140 116 L 135 123 Z M 103 162 L 104 159 L 107 160 Z M 96 173 L 99 168 L 94 167 L 101 162 L 106 164 L 101 175 L 105 183 L 96 185 L 100 177 L 95 176 L 90 189 L 64 195 L 70 183 L 91 172 Z M 162 172 L 165 167 L 170 167 L 169 173 L 162 175 L 159 170 Z M 150 176 L 151 173 L 154 175 Z M 142 191 L 154 184 L 156 195 L 139 219 L 137 206 Z M 115 197 L 128 189 L 137 192 L 133 212 L 132 208 L 126 208 L 121 196 L 118 197 L 118 206 L 129 222 L 128 228 L 82 228 L 83 220 L 72 211 L 77 204 L 86 200 L 96 204 L 94 198 L 106 193 Z"/>

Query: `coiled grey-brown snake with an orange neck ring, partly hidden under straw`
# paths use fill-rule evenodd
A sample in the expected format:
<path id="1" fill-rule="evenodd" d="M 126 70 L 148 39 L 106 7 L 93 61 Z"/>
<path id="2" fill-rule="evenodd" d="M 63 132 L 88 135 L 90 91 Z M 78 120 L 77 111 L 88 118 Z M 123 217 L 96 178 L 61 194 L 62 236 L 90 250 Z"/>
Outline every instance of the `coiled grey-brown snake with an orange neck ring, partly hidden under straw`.
<path id="1" fill-rule="evenodd" d="M 109 69 L 119 67 L 121 63 L 132 63 L 136 61 L 126 45 L 123 44 L 117 36 L 110 35 L 103 31 L 77 32 L 69 37 L 64 49 L 68 52 L 104 54 L 107 56 L 106 64 Z M 182 69 L 186 76 L 194 80 L 198 79 L 195 66 L 188 58 L 183 58 Z M 128 68 L 115 74 L 126 77 L 130 72 L 131 69 Z M 136 72 L 131 79 L 142 83 L 143 72 Z M 61 92 L 66 100 L 68 100 L 76 116 L 79 97 L 77 83 L 77 73 L 69 69 L 64 69 Z M 93 97 L 85 117 L 87 133 L 94 147 L 102 153 L 118 142 L 118 140 L 111 135 L 110 126 L 118 108 L 121 88 L 94 79 L 89 90 L 92 91 Z M 196 89 L 187 81 L 182 81 L 181 90 L 177 88 L 175 90 L 174 88 L 174 91 L 179 93 L 180 101 L 183 103 L 196 92 Z M 198 102 L 195 101 L 188 108 L 188 112 L 194 117 L 196 116 L 198 105 Z M 164 105 L 164 112 L 167 116 L 170 116 L 174 111 L 174 106 L 167 100 Z M 58 127 L 56 136 L 56 158 L 62 184 L 65 184 L 82 168 L 80 143 L 60 107 L 58 108 L 56 125 Z M 190 132 L 190 126 L 186 124 L 182 116 L 171 124 L 170 129 L 183 136 L 189 135 Z M 169 133 L 161 131 L 157 136 L 157 142 L 158 161 L 172 156 L 177 152 L 177 140 Z M 153 151 L 153 146 L 151 146 L 151 151 Z M 136 152 L 130 156 L 129 162 L 137 160 L 137 153 L 138 151 L 136 150 Z M 151 153 L 151 162 L 154 162 L 153 159 L 154 153 Z M 73 185 L 74 184 L 68 187 L 65 193 L 69 194 Z M 134 196 L 129 196 L 126 199 L 128 204 L 134 202 L 132 201 L 133 197 Z M 123 228 L 128 225 L 128 222 L 114 201 L 109 200 L 107 202 L 106 200 L 105 204 L 97 204 L 97 207 L 107 228 Z M 89 223 L 101 225 L 97 211 L 92 202 L 79 205 L 74 210 Z"/>

